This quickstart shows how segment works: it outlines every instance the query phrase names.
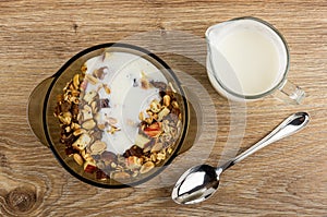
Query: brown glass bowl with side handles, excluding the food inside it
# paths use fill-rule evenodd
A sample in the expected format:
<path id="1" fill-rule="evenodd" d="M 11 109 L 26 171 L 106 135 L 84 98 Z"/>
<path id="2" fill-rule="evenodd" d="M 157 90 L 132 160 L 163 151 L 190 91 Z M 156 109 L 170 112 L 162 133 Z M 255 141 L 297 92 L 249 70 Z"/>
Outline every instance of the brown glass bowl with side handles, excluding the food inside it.
<path id="1" fill-rule="evenodd" d="M 104 52 L 111 51 L 132 53 L 145 59 L 146 61 L 155 65 L 158 71 L 166 77 L 166 80 L 173 85 L 173 88 L 177 92 L 178 103 L 182 111 L 181 132 L 175 144 L 172 146 L 173 148 L 171 154 L 169 154 L 166 160 L 156 165 L 156 167 L 150 172 L 137 176 L 136 179 L 128 179 L 124 181 L 118 181 L 114 179 L 100 180 L 96 178 L 96 172 L 85 172 L 83 167 L 77 165 L 71 156 L 66 155 L 65 146 L 60 143 L 60 124 L 58 118 L 53 116 L 57 106 L 57 96 L 62 94 L 63 87 L 68 82 L 72 80 L 76 72 L 81 71 L 81 67 L 90 58 L 100 56 Z M 102 44 L 85 49 L 72 57 L 55 75 L 43 81 L 33 91 L 28 103 L 28 121 L 35 135 L 40 140 L 43 144 L 50 147 L 59 162 L 71 174 L 86 183 L 96 186 L 125 188 L 143 183 L 154 178 L 156 174 L 162 171 L 162 169 L 168 166 L 177 155 L 179 155 L 181 152 L 184 152 L 190 147 L 190 145 L 192 145 L 190 134 L 192 134 L 191 136 L 193 136 L 194 133 L 190 133 L 189 128 L 191 121 L 190 109 L 192 108 L 187 104 L 184 89 L 182 88 L 178 77 L 160 58 L 147 51 L 146 49 L 133 45 Z"/>

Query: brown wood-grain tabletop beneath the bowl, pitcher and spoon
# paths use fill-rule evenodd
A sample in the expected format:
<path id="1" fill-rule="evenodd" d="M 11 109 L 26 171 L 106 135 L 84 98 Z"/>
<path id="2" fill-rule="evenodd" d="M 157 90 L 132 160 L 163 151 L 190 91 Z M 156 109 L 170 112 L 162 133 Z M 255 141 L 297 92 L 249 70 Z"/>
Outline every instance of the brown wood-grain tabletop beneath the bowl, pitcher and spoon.
<path id="1" fill-rule="evenodd" d="M 238 105 L 210 86 L 201 64 L 204 33 L 215 23 L 244 15 L 270 22 L 287 38 L 289 79 L 307 94 L 302 105 L 267 97 L 239 112 Z M 0 216 L 327 216 L 326 27 L 327 3 L 320 0 L 0 1 Z M 161 43 L 170 39 L 170 50 L 160 53 L 150 34 Z M 190 41 L 174 34 L 191 36 Z M 72 56 L 114 41 L 144 44 L 208 93 L 213 104 L 202 108 L 207 118 L 203 140 L 214 144 L 201 149 L 206 159 L 180 155 L 182 167 L 204 160 L 217 165 L 230 144 L 237 144 L 233 154 L 241 152 L 292 112 L 307 111 L 312 121 L 301 133 L 228 170 L 219 192 L 202 204 L 171 201 L 169 184 L 178 176 L 148 188 L 109 190 L 83 183 L 34 136 L 26 105 L 34 87 Z M 194 56 L 185 58 L 187 46 Z M 171 51 L 175 57 L 167 58 Z"/>

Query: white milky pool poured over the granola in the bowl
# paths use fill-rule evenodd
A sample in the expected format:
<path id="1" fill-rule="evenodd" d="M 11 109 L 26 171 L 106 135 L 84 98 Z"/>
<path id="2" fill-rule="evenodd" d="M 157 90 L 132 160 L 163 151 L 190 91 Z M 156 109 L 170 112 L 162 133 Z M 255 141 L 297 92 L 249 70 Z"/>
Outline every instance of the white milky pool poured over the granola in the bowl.
<path id="1" fill-rule="evenodd" d="M 141 79 L 148 81 L 165 82 L 166 77 L 148 60 L 128 52 L 110 52 L 109 57 L 98 56 L 86 61 L 87 74 L 95 70 L 107 67 L 108 71 L 104 80 L 98 84 L 88 84 L 86 93 L 98 89 L 107 84 L 111 93 L 107 94 L 104 88 L 98 92 L 100 99 L 109 99 L 110 108 L 101 108 L 100 116 L 104 122 L 111 117 L 118 120 L 116 124 L 120 131 L 109 133 L 107 126 L 102 134 L 102 141 L 107 143 L 107 150 L 123 154 L 135 144 L 137 126 L 140 124 L 138 113 L 148 108 L 153 99 L 160 99 L 158 88 L 142 88 Z"/>

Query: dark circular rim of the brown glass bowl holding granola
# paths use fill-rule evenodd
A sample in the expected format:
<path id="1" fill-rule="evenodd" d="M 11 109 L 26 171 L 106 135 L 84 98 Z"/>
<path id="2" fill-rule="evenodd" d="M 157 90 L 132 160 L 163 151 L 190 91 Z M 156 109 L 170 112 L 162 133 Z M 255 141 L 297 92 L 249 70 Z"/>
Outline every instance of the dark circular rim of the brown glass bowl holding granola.
<path id="1" fill-rule="evenodd" d="M 185 108 L 184 110 L 184 125 L 182 129 L 182 134 L 180 135 L 180 141 L 179 144 L 177 146 L 177 148 L 174 149 L 173 154 L 170 156 L 170 158 L 159 168 L 157 168 L 157 171 L 155 171 L 154 173 L 152 173 L 150 176 L 147 176 L 141 180 L 137 180 L 135 182 L 131 182 L 131 183 L 121 183 L 118 185 L 109 185 L 107 183 L 100 183 L 100 182 L 96 182 L 93 181 L 90 179 L 87 179 L 85 177 L 83 177 L 82 174 L 78 174 L 77 172 L 75 172 L 59 155 L 59 153 L 56 150 L 50 135 L 48 133 L 48 124 L 47 124 L 47 108 L 48 108 L 48 100 L 49 96 L 51 94 L 52 87 L 55 86 L 57 80 L 59 79 L 59 76 L 77 59 L 80 59 L 81 57 L 83 57 L 84 55 L 87 55 L 92 51 L 98 50 L 98 49 L 104 49 L 104 48 L 111 48 L 111 47 L 121 47 L 121 48 L 128 48 L 128 49 L 132 49 L 132 50 L 136 50 L 136 51 L 141 51 L 142 53 L 149 56 L 150 58 L 153 58 L 155 61 L 157 61 L 160 65 L 162 65 L 164 69 L 166 69 L 169 74 L 172 76 L 172 79 L 175 82 L 175 85 L 178 86 L 180 94 L 181 94 L 181 98 L 183 101 L 183 106 Z M 105 44 L 99 44 L 96 46 L 92 46 L 89 48 L 86 48 L 80 52 L 77 52 L 76 55 L 74 55 L 72 58 L 70 58 L 52 76 L 53 80 L 51 81 L 51 84 L 49 85 L 49 88 L 46 92 L 45 95 L 45 101 L 44 101 L 44 108 L 43 108 L 43 128 L 45 130 L 45 136 L 46 136 L 46 141 L 49 144 L 49 147 L 52 152 L 52 154 L 55 155 L 55 157 L 57 158 L 57 160 L 60 162 L 60 165 L 66 170 L 69 171 L 73 177 L 80 179 L 81 181 L 94 185 L 94 186 L 98 186 L 98 188 L 104 188 L 104 189 L 122 189 L 122 188 L 131 188 L 131 186 L 135 186 L 142 183 L 145 183 L 146 181 L 153 179 L 154 177 L 156 177 L 157 174 L 159 174 L 160 172 L 162 172 L 162 170 L 165 170 L 167 168 L 168 165 L 170 165 L 172 162 L 172 160 L 179 155 L 179 150 L 181 149 L 181 147 L 183 146 L 183 143 L 185 141 L 185 136 L 186 136 L 186 132 L 189 129 L 189 103 L 186 100 L 186 96 L 185 96 L 185 92 L 181 85 L 180 80 L 177 77 L 175 73 L 172 71 L 172 69 L 158 56 L 156 56 L 155 53 L 150 52 L 149 50 L 135 46 L 135 45 L 131 45 L 131 44 L 123 44 L 123 43 L 105 43 Z"/>

